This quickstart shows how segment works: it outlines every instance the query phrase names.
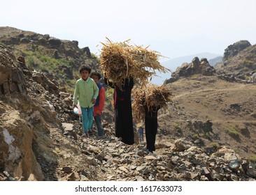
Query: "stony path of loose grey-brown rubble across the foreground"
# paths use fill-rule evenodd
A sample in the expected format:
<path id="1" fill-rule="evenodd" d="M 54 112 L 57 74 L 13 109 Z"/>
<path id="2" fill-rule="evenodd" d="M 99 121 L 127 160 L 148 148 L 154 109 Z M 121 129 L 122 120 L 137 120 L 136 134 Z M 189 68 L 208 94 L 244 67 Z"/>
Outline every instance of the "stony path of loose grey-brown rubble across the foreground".
<path id="1" fill-rule="evenodd" d="M 234 150 L 220 148 L 209 156 L 190 141 L 156 144 L 156 152 L 149 155 L 145 143 L 126 145 L 113 135 L 104 139 L 83 138 L 78 143 L 85 155 L 93 180 L 255 180 L 256 171 Z M 93 172 L 93 173 L 92 173 Z M 84 171 L 85 173 L 85 171 Z M 80 172 L 73 180 L 92 180 Z M 66 178 L 70 180 L 70 178 Z"/>

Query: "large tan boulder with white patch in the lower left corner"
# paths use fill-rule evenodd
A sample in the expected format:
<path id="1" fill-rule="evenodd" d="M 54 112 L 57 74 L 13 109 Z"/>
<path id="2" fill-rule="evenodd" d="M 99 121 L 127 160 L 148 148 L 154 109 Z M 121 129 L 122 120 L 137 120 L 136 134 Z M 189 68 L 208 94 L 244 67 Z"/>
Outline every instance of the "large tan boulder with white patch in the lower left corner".
<path id="1" fill-rule="evenodd" d="M 43 180 L 41 166 L 32 150 L 33 130 L 17 110 L 0 105 L 5 112 L 0 118 L 2 169 L 13 173 L 17 180 Z"/>

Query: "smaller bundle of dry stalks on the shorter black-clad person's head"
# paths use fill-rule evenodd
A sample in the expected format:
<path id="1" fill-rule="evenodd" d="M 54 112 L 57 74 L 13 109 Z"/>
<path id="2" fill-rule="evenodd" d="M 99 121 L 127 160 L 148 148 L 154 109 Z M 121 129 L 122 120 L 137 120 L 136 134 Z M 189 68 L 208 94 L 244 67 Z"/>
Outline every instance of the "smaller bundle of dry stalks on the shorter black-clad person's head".
<path id="1" fill-rule="evenodd" d="M 154 84 L 148 84 L 141 88 L 135 88 L 133 91 L 134 101 L 131 104 L 134 113 L 135 120 L 143 120 L 145 118 L 145 108 L 152 110 L 153 107 L 159 106 L 160 108 L 166 108 L 167 102 L 171 98 L 171 89 L 166 86 L 157 86 Z"/>

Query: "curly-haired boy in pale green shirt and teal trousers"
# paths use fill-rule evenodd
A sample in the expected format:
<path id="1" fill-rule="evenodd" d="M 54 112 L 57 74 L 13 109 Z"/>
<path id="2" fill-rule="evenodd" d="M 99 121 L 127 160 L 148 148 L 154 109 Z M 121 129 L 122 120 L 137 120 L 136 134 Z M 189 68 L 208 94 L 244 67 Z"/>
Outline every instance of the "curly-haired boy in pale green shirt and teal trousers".
<path id="1" fill-rule="evenodd" d="M 87 65 L 82 65 L 79 68 L 81 78 L 76 81 L 76 87 L 73 93 L 73 108 L 77 107 L 79 101 L 82 110 L 83 131 L 87 137 L 88 129 L 92 128 L 93 107 L 99 95 L 97 84 L 89 77 L 91 70 Z"/>

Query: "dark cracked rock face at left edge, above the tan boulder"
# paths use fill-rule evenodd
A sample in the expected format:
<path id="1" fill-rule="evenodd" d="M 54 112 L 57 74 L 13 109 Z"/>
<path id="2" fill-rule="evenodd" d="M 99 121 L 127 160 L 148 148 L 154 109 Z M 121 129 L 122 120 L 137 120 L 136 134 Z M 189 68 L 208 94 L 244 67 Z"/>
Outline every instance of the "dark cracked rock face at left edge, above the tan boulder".
<path id="1" fill-rule="evenodd" d="M 20 63 L 0 45 L 0 94 L 26 92 L 26 81 Z"/>

